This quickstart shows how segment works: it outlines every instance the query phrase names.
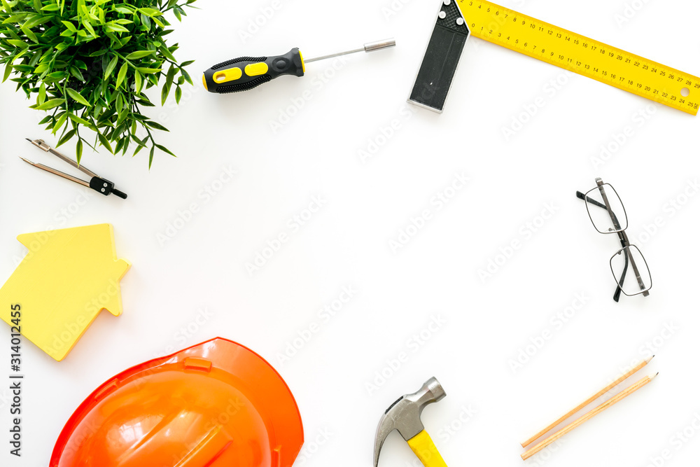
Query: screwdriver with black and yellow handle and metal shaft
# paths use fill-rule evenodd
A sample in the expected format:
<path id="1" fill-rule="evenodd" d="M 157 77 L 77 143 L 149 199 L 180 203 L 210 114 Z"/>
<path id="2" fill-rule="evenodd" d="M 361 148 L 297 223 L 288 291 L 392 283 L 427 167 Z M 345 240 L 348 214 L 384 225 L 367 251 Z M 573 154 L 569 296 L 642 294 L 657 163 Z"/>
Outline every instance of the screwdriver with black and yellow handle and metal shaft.
<path id="1" fill-rule="evenodd" d="M 366 43 L 363 48 L 307 60 L 304 60 L 298 48 L 293 48 L 288 53 L 277 55 L 276 57 L 239 57 L 214 65 L 214 67 L 204 71 L 202 82 L 206 90 L 218 94 L 247 91 L 272 81 L 277 76 L 304 76 L 306 72 L 305 64 L 307 63 L 350 53 L 374 52 L 374 50 L 394 47 L 395 45 L 396 41 L 394 39 L 386 39 L 384 41 Z"/>

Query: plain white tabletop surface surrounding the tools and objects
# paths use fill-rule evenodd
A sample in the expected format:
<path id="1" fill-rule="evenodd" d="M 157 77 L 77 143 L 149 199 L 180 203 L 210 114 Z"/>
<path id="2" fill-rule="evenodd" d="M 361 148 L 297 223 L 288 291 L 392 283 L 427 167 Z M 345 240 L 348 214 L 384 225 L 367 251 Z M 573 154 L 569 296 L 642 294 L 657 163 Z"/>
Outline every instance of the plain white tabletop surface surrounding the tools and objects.
<path id="1" fill-rule="evenodd" d="M 639 11 L 622 25 L 615 20 L 622 0 L 504 1 L 700 74 L 696 1 L 638 0 Z M 521 466 L 520 441 L 650 353 L 657 358 L 636 376 L 660 372 L 650 386 L 526 465 L 643 467 L 665 449 L 670 459 L 657 465 L 697 462 L 700 433 L 689 428 L 685 442 L 676 437 L 700 417 L 695 117 L 479 39 L 464 50 L 442 115 L 408 106 L 437 0 L 397 0 L 388 16 L 388 0 L 281 0 L 246 41 L 239 33 L 270 0 L 197 5 L 202 10 L 171 36 L 181 43 L 180 60 L 197 60 L 190 67 L 197 85 L 179 109 L 171 102 L 149 113 L 169 127 L 158 139 L 179 157 L 157 155 L 150 172 L 145 153 L 83 158 L 128 193 L 126 201 L 95 194 L 76 209 L 80 187 L 25 165 L 18 156 L 66 167 L 24 140 L 55 144 L 36 125 L 43 113 L 27 109 L 12 83 L 0 86 L 0 282 L 25 254 L 15 237 L 52 227 L 111 223 L 118 256 L 133 264 L 121 282 L 123 315 L 103 312 L 65 361 L 25 340 L 24 456 L 8 455 L 8 391 L 0 389 L 1 465 L 48 465 L 64 423 L 99 384 L 218 335 L 258 351 L 293 390 L 307 438 L 296 465 L 370 465 L 381 413 L 434 375 L 447 398 L 428 407 L 423 421 L 447 464 Z M 212 95 L 199 80 L 204 69 L 239 55 L 299 47 L 311 57 L 390 36 L 394 49 L 309 64 L 304 78 L 279 78 L 246 94 Z M 306 90 L 311 98 L 300 106 Z M 545 106 L 507 140 L 503 128 L 540 97 Z M 294 115 L 274 132 L 271 122 L 283 113 Z M 383 139 L 393 120 L 398 130 Z M 596 165 L 601 146 L 628 126 L 633 136 Z M 359 151 L 370 141 L 381 147 L 363 160 Z M 64 150 L 73 155 L 73 146 Z M 230 168 L 234 179 L 218 182 Z M 455 174 L 470 181 L 438 210 L 430 200 Z M 654 277 L 648 298 L 612 301 L 608 259 L 619 243 L 596 233 L 575 197 L 596 176 L 625 202 L 629 235 Z M 212 187 L 216 196 L 204 195 Z M 323 207 L 293 232 L 288 222 L 314 196 Z M 672 200 L 685 204 L 676 209 Z M 192 204 L 190 221 L 176 221 Z M 547 204 L 554 215 L 542 224 Z M 432 218 L 393 251 L 390 242 L 424 209 Z M 182 228 L 159 241 L 174 223 Z M 540 227 L 526 236 L 528 223 Z M 249 274 L 246 263 L 280 233 L 288 242 Z M 478 271 L 516 239 L 521 248 L 480 279 Z M 330 321 L 321 319 L 318 310 L 348 286 L 356 295 Z M 585 304 L 561 322 L 556 315 L 577 295 Z M 203 311 L 213 316 L 197 323 Z M 413 336 L 434 318 L 439 329 L 416 345 Z M 280 361 L 314 323 L 318 333 Z M 540 348 L 528 347 L 547 331 Z M 1 381 L 9 373 L 9 334 L 0 326 L 1 388 L 8 386 Z M 513 368 L 521 350 L 531 356 Z M 388 369 L 402 352 L 400 368 Z M 391 375 L 375 380 L 382 370 Z M 415 464 L 391 435 L 380 465 Z"/>

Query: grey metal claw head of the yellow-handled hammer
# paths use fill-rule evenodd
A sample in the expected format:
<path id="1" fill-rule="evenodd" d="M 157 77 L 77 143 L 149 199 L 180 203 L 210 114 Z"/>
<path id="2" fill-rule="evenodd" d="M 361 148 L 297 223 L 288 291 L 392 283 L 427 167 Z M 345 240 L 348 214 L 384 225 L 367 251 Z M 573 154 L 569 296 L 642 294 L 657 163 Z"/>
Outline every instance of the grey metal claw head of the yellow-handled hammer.
<path id="1" fill-rule="evenodd" d="M 442 400 L 446 395 L 437 379 L 432 377 L 418 391 L 401 396 L 391 404 L 377 426 L 377 436 L 374 438 L 374 467 L 379 463 L 379 452 L 386 436 L 398 430 L 403 439 L 408 441 L 413 438 L 424 429 L 421 414 L 426 405 Z"/>

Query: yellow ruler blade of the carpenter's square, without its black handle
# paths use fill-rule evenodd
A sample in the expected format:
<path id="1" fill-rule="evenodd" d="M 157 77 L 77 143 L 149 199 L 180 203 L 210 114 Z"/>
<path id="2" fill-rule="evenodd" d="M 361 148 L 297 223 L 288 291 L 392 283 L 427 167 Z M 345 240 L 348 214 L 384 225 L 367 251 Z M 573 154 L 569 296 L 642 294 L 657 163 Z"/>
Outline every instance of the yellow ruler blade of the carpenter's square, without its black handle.
<path id="1" fill-rule="evenodd" d="M 697 115 L 700 78 L 489 1 L 457 0 L 472 36 Z"/>

